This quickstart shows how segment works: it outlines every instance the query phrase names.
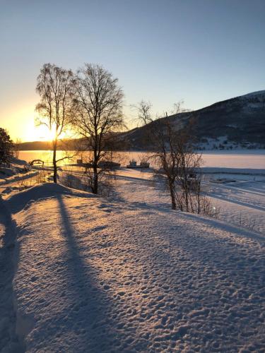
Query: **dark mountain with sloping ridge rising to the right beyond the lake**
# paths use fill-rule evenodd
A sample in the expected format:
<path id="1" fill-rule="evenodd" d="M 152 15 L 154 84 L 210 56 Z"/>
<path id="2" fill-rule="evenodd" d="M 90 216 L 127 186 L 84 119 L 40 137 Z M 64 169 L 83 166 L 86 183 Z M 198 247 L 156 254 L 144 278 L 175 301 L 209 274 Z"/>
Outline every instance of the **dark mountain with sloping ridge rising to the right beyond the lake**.
<path id="1" fill-rule="evenodd" d="M 265 90 L 161 119 L 168 119 L 176 133 L 192 120 L 194 136 L 202 149 L 265 148 Z M 122 134 L 131 150 L 148 149 L 146 128 Z"/>

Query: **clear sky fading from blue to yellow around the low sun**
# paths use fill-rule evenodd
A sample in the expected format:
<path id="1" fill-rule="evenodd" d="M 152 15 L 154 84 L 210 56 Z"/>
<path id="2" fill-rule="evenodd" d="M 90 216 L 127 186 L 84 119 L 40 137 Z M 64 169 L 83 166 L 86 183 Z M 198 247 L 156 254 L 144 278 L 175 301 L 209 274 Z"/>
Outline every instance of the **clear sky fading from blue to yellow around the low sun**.
<path id="1" fill-rule="evenodd" d="M 0 127 L 23 141 L 34 123 L 45 63 L 101 64 L 131 104 L 153 114 L 199 109 L 265 89 L 264 0 L 0 0 Z"/>

